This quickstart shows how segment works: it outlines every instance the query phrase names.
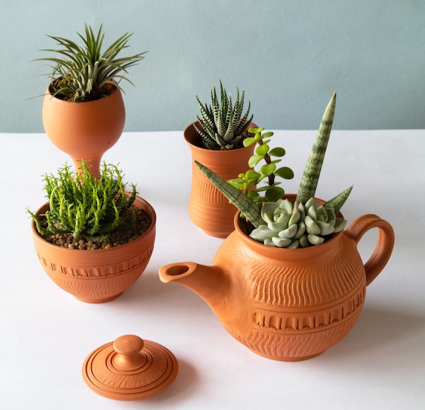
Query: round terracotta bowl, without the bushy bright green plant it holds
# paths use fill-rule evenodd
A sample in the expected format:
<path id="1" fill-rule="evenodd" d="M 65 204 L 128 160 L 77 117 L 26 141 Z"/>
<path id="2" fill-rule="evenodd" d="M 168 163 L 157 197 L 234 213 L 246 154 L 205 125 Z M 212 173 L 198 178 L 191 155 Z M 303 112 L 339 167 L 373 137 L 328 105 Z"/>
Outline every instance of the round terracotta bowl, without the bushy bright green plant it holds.
<path id="1" fill-rule="evenodd" d="M 142 275 L 154 249 L 156 215 L 147 201 L 136 197 L 134 205 L 147 212 L 151 226 L 141 237 L 110 249 L 66 249 L 50 244 L 31 223 L 35 251 L 47 275 L 78 300 L 108 302 L 118 297 Z M 46 203 L 37 211 L 49 209 Z"/>

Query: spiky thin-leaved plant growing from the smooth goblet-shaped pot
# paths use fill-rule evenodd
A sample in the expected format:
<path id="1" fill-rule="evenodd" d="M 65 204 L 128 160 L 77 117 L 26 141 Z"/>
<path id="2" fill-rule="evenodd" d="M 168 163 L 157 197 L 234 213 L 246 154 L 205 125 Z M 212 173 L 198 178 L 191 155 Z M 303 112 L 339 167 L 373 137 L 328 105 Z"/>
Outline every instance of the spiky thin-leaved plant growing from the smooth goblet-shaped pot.
<path id="1" fill-rule="evenodd" d="M 126 77 L 128 68 L 145 58 L 146 52 L 128 57 L 118 57 L 128 46 L 132 33 L 125 33 L 102 51 L 104 33 L 102 25 L 95 34 L 90 25 L 84 25 L 85 34 L 79 35 L 83 41 L 78 45 L 72 40 L 48 35 L 59 48 L 41 50 L 53 52 L 57 57 L 38 60 L 52 63 L 51 81 L 53 96 L 66 101 L 93 101 L 102 98 L 118 86 L 120 80 L 132 82 Z"/>

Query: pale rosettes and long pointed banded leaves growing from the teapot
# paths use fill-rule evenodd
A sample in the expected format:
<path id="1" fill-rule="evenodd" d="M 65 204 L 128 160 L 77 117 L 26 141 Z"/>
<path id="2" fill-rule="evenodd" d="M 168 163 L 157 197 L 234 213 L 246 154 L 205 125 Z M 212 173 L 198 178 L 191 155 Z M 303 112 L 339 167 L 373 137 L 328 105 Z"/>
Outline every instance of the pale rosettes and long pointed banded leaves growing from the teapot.
<path id="1" fill-rule="evenodd" d="M 334 120 L 336 93 L 329 101 L 302 175 L 295 203 L 279 198 L 255 203 L 241 190 L 197 163 L 212 183 L 241 211 L 254 229 L 249 236 L 265 245 L 296 249 L 321 244 L 344 229 L 346 220 L 338 215 L 352 186 L 323 205 L 314 199 L 324 154 Z"/>

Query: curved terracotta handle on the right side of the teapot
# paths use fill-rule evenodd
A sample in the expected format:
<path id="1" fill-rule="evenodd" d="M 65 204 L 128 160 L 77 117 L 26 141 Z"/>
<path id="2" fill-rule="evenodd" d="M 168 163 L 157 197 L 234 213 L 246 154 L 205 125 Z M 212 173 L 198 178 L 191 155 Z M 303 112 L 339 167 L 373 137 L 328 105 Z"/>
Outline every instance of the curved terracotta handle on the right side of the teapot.
<path id="1" fill-rule="evenodd" d="M 373 254 L 365 263 L 366 285 L 372 283 L 390 259 L 395 241 L 394 230 L 387 221 L 373 214 L 358 217 L 346 229 L 346 234 L 358 244 L 361 237 L 372 228 L 378 228 L 378 241 Z"/>

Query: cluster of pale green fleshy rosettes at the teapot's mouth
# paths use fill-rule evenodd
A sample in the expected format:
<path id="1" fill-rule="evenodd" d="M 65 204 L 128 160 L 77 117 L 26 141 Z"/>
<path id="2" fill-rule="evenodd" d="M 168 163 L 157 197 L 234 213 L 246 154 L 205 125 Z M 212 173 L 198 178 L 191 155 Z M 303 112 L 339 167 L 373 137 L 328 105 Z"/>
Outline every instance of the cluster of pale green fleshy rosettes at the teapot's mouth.
<path id="1" fill-rule="evenodd" d="M 265 223 L 249 236 L 265 245 L 288 249 L 322 244 L 346 225 L 346 220 L 336 217 L 333 207 L 319 205 L 314 198 L 305 204 L 288 199 L 263 203 L 261 217 Z"/>

